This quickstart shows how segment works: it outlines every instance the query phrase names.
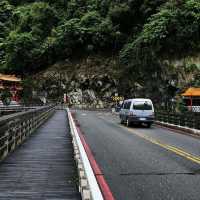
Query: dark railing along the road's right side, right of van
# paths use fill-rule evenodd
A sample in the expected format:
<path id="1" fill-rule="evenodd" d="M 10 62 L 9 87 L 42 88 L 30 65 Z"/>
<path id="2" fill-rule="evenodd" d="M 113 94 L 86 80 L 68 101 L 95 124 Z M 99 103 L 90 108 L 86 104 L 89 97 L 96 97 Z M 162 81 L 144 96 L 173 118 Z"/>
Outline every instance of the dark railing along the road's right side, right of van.
<path id="1" fill-rule="evenodd" d="M 156 120 L 178 126 L 200 130 L 200 113 L 175 113 L 170 111 L 157 111 Z"/>

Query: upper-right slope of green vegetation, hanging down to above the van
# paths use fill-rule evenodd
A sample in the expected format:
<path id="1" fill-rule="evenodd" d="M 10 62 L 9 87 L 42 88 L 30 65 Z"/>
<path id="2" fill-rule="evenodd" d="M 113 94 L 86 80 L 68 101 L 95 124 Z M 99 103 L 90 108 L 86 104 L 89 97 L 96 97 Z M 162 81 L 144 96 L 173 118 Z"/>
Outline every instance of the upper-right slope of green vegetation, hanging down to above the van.
<path id="1" fill-rule="evenodd" d="M 162 79 L 163 59 L 199 52 L 199 28 L 198 0 L 169 1 L 149 17 L 137 38 L 125 45 L 120 53 L 121 63 L 135 81 Z"/>

